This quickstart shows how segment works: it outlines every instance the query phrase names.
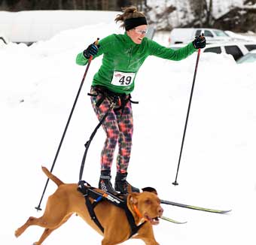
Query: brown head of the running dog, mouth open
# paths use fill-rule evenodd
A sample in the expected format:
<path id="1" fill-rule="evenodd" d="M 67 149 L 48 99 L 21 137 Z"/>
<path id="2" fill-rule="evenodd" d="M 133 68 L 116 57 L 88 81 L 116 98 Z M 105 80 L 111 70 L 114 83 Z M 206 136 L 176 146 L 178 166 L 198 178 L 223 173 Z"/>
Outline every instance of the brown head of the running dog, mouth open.
<path id="1" fill-rule="evenodd" d="M 127 205 L 139 222 L 147 220 L 152 225 L 157 225 L 158 218 L 163 215 L 160 199 L 154 192 L 133 192 L 127 197 Z"/>

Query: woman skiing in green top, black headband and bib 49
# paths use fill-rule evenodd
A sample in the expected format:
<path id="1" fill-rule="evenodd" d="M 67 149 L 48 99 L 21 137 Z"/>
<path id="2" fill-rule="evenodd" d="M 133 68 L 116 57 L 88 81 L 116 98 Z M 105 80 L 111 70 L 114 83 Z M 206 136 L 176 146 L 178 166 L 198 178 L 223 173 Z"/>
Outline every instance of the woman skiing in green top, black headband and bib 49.
<path id="1" fill-rule="evenodd" d="M 76 59 L 78 65 L 86 65 L 90 56 L 96 58 L 103 54 L 102 65 L 93 77 L 91 102 L 98 117 L 108 111 L 114 101 L 116 107 L 111 110 L 102 127 L 107 135 L 101 155 L 101 175 L 99 189 L 127 194 L 128 190 L 139 192 L 126 181 L 133 136 L 133 112 L 130 93 L 134 89 L 134 80 L 139 68 L 148 56 L 163 59 L 181 60 L 206 46 L 202 36 L 179 50 L 171 50 L 145 38 L 148 23 L 145 15 L 135 7 L 125 8 L 118 14 L 116 22 L 121 22 L 124 35 L 109 35 L 98 44 L 90 44 Z M 114 150 L 118 143 L 117 175 L 114 188 L 111 185 L 111 165 Z"/>

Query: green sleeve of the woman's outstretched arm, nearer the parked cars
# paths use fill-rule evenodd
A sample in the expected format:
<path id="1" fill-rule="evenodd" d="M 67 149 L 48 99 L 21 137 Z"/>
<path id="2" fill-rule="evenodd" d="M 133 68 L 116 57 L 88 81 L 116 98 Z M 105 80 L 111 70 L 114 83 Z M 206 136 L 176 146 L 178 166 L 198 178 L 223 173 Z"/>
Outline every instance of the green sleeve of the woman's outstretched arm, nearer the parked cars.
<path id="1" fill-rule="evenodd" d="M 175 61 L 185 59 L 187 56 L 190 56 L 190 54 L 197 50 L 194 48 L 192 42 L 178 50 L 172 50 L 171 48 L 163 47 L 160 44 L 157 44 L 157 42 L 151 40 L 149 40 L 149 49 L 151 56 L 157 56 L 163 59 L 171 59 Z"/>

